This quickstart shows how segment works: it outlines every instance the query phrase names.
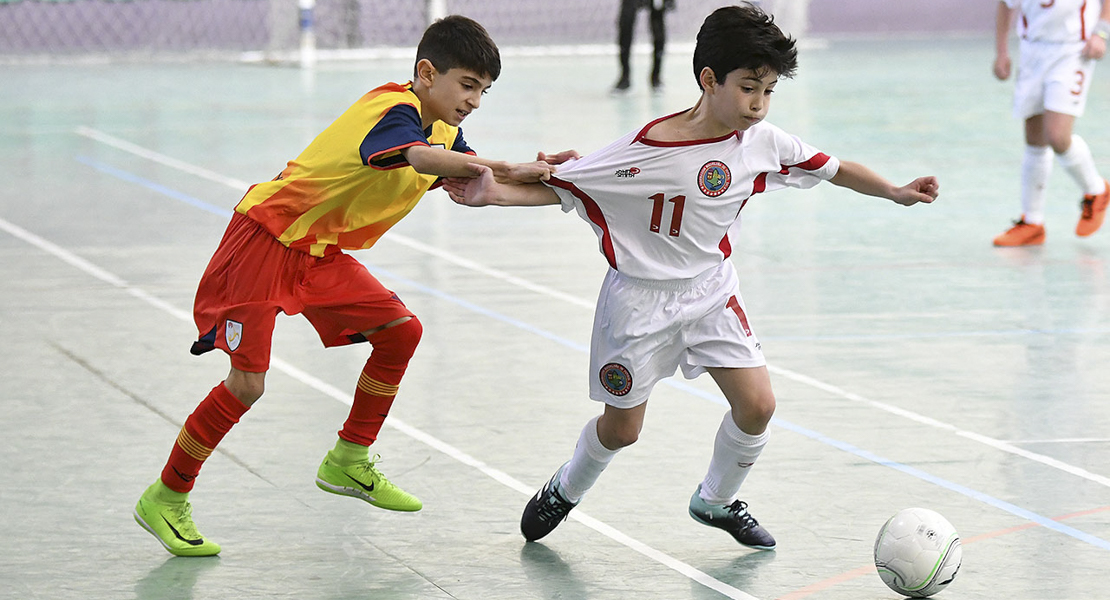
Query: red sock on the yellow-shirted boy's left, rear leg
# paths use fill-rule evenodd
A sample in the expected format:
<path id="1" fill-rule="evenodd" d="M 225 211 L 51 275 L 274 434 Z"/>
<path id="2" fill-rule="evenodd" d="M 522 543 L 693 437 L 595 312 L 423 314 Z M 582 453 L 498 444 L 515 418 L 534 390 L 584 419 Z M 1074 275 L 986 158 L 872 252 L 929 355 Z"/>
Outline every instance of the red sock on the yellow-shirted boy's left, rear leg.
<path id="1" fill-rule="evenodd" d="M 165 487 L 180 492 L 193 489 L 193 480 L 204 460 L 246 409 L 248 406 L 228 391 L 223 383 L 213 387 L 178 434 L 178 441 L 162 469 Z"/>

